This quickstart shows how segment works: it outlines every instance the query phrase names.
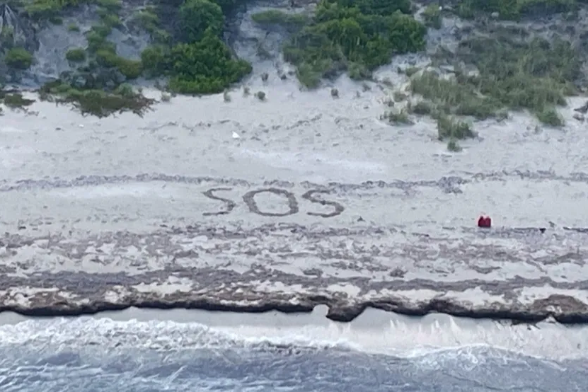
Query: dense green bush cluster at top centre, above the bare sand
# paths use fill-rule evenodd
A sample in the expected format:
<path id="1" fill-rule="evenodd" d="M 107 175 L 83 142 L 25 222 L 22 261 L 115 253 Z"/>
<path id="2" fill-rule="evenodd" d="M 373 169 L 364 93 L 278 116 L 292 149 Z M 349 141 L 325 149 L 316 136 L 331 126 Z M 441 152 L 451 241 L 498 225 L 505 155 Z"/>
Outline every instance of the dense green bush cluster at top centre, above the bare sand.
<path id="1" fill-rule="evenodd" d="M 286 17 L 264 13 L 258 18 Z M 425 33 L 410 16 L 408 0 L 323 0 L 311 24 L 284 45 L 284 59 L 296 65 L 299 81 L 309 88 L 342 71 L 366 79 L 393 54 L 422 50 Z"/>

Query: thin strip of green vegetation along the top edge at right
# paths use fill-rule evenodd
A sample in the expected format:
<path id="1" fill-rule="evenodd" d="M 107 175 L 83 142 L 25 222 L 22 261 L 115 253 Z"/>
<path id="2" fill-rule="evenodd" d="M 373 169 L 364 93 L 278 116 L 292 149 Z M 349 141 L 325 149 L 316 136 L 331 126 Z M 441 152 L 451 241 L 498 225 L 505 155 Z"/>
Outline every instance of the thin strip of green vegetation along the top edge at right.
<path id="1" fill-rule="evenodd" d="M 583 0 L 463 0 L 458 13 L 463 18 L 473 18 L 477 13 L 497 12 L 502 19 L 516 20 L 522 16 L 546 15 L 575 11 Z M 585 1 L 584 1 L 585 2 Z"/>

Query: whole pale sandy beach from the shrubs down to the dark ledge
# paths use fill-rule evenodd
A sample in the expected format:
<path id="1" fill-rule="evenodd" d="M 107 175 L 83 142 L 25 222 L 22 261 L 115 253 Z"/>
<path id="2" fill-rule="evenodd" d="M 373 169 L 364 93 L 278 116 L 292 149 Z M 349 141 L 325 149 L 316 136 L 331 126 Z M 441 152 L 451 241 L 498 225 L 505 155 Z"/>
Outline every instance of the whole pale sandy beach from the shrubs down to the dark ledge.
<path id="1" fill-rule="evenodd" d="M 7 110 L 4 310 L 588 317 L 588 234 L 564 229 L 587 219 L 582 98 L 564 129 L 514 113 L 449 153 L 429 120 L 381 122 L 382 86 L 335 87 L 253 76 L 265 101 L 178 96 L 143 118 Z"/>

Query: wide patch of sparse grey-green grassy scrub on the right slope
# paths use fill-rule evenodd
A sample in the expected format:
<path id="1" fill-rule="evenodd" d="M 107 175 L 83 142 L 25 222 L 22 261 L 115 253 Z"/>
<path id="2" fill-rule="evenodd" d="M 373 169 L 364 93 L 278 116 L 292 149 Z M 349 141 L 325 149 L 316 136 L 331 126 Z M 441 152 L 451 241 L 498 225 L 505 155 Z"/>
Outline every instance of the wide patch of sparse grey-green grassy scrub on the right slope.
<path id="1" fill-rule="evenodd" d="M 468 115 L 478 120 L 505 109 L 529 110 L 547 125 L 563 125 L 555 106 L 575 93 L 581 62 L 570 42 L 536 38 L 471 38 L 461 43 L 456 58 L 477 67 L 479 74 L 456 69 L 444 79 L 432 72 L 415 76 L 413 93 L 428 100 L 437 113 Z"/>

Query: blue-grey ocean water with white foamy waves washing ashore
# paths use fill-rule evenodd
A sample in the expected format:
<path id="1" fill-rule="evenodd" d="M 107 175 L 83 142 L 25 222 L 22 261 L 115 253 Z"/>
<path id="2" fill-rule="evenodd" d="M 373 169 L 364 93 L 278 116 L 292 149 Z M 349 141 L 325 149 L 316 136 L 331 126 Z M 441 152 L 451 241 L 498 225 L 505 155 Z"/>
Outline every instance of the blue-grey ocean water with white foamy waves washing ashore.
<path id="1" fill-rule="evenodd" d="M 544 355 L 538 356 L 494 347 L 489 342 L 497 330 L 484 332 L 481 324 L 460 333 L 449 316 L 423 321 L 429 327 L 396 318 L 381 333 L 324 322 L 238 324 L 238 315 L 231 316 L 233 325 L 212 325 L 215 316 L 207 317 L 202 323 L 84 317 L 4 324 L 0 391 L 588 390 L 582 348 L 566 352 L 571 340 L 584 340 L 587 333 L 560 326 L 553 327 L 560 330 L 559 341 L 542 335 L 542 328 L 502 328 L 503 335 L 511 334 L 502 336 L 503 344 L 543 345 Z M 461 345 L 459 335 L 464 341 L 476 335 L 479 342 Z"/>

